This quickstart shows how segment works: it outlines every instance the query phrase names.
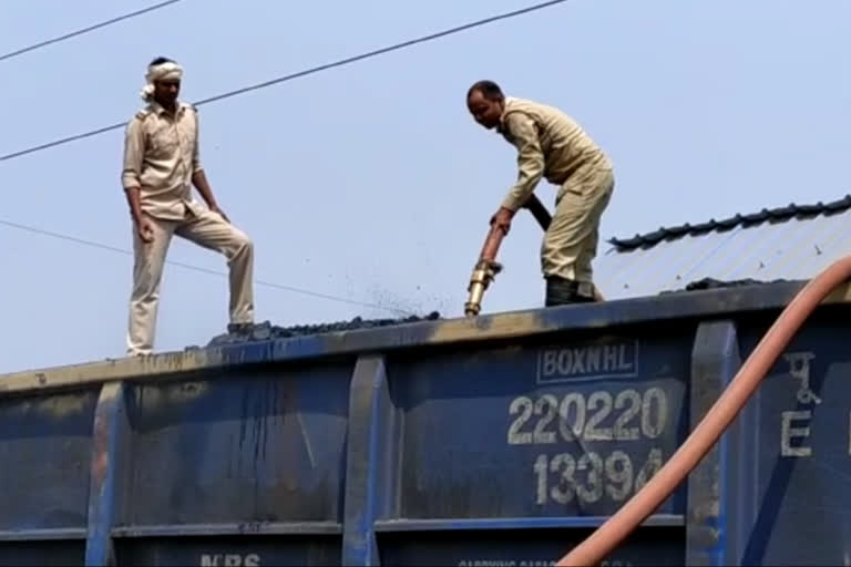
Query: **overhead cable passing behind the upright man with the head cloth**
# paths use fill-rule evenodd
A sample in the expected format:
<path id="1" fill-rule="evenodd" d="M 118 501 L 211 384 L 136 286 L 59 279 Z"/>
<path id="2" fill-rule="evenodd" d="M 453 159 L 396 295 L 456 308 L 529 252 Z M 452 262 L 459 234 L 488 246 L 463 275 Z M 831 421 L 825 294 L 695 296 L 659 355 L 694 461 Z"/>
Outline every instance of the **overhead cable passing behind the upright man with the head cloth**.
<path id="1" fill-rule="evenodd" d="M 195 102 L 194 104 L 196 106 L 201 106 L 201 105 L 204 105 L 204 104 L 208 104 L 211 102 L 216 102 L 216 101 L 221 101 L 221 100 L 224 100 L 224 99 L 229 99 L 232 96 L 237 96 L 239 94 L 244 94 L 244 93 L 247 93 L 247 92 L 250 92 L 250 91 L 257 91 L 259 89 L 266 89 L 268 86 L 271 86 L 271 85 L 275 85 L 275 84 L 278 84 L 278 83 L 284 83 L 284 82 L 287 82 L 287 81 L 291 81 L 294 79 L 299 79 L 301 76 L 306 76 L 306 75 L 309 75 L 309 74 L 318 73 L 320 71 L 326 71 L 328 69 L 334 69 L 334 68 L 347 65 L 347 64 L 350 64 L 350 63 L 355 63 L 357 61 L 362 61 L 365 59 L 369 59 L 369 58 L 373 58 L 373 56 L 381 55 L 381 54 L 385 54 L 385 53 L 389 53 L 391 51 L 398 51 L 400 49 L 409 48 L 409 47 L 418 44 L 418 43 L 424 43 L 427 41 L 432 41 L 432 40 L 435 40 L 438 38 L 443 38 L 445 35 L 451 35 L 453 33 L 459 33 L 461 31 L 465 31 L 465 30 L 470 30 L 472 28 L 478 28 L 478 27 L 481 27 L 481 25 L 493 23 L 495 21 L 507 20 L 510 18 L 515 18 L 517 16 L 522 16 L 522 14 L 525 14 L 525 13 L 529 13 L 529 12 L 534 12 L 534 11 L 537 11 L 537 10 L 543 10 L 544 8 L 550 8 L 552 6 L 560 4 L 560 3 L 563 3 L 563 2 L 566 2 L 566 1 L 567 0 L 550 0 L 547 2 L 530 6 L 527 8 L 522 8 L 520 10 L 513 10 L 511 12 L 505 12 L 505 13 L 501 13 L 501 14 L 498 14 L 498 16 L 492 16 L 492 17 L 485 18 L 483 20 L 476 20 L 474 22 L 465 23 L 463 25 L 458 25 L 455 28 L 450 28 L 448 30 L 443 30 L 443 31 L 440 31 L 440 32 L 430 33 L 428 35 L 423 35 L 421 38 L 416 38 L 416 39 L 412 39 L 412 40 L 408 40 L 408 41 L 404 41 L 402 43 L 396 43 L 394 45 L 390 45 L 390 47 L 387 47 L 387 48 L 381 48 L 381 49 L 378 49 L 378 50 L 375 50 L 375 51 L 368 51 L 368 52 L 361 53 L 359 55 L 353 55 L 353 56 L 349 56 L 349 58 L 346 58 L 346 59 L 340 59 L 340 60 L 334 61 L 331 63 L 326 63 L 326 64 L 314 66 L 314 68 L 310 68 L 310 69 L 305 69 L 304 71 L 298 71 L 296 73 L 291 73 L 291 74 L 284 75 L 284 76 L 278 76 L 278 78 L 271 79 L 269 81 L 264 81 L 262 83 L 257 83 L 257 84 L 253 84 L 253 85 L 245 86 L 245 87 L 242 87 L 242 89 L 237 89 L 235 91 L 228 91 L 228 92 L 225 92 L 225 93 L 222 93 L 222 94 L 209 96 L 207 99 L 202 99 L 202 100 Z M 38 145 L 38 146 L 29 147 L 27 150 L 21 150 L 21 151 L 18 151 L 18 152 L 13 152 L 11 154 L 6 154 L 6 155 L 0 156 L 0 162 L 4 162 L 7 159 L 12 159 L 14 157 L 20 157 L 20 156 L 27 155 L 27 154 L 32 154 L 34 152 L 40 152 L 42 150 L 48 150 L 50 147 L 54 147 L 54 146 L 58 146 L 58 145 L 68 144 L 69 142 L 75 142 L 78 140 L 82 140 L 82 138 L 85 138 L 85 137 L 95 136 L 98 134 L 102 134 L 104 132 L 110 132 L 112 130 L 119 130 L 119 128 L 124 127 L 125 124 L 126 124 L 126 122 L 119 122 L 116 124 L 111 124 L 109 126 L 103 126 L 103 127 L 100 127 L 100 128 L 96 128 L 96 130 L 92 130 L 90 132 L 84 132 L 82 134 L 76 134 L 76 135 L 73 135 L 73 136 L 54 140 L 53 142 L 48 142 L 47 144 L 41 144 L 41 145 Z"/>

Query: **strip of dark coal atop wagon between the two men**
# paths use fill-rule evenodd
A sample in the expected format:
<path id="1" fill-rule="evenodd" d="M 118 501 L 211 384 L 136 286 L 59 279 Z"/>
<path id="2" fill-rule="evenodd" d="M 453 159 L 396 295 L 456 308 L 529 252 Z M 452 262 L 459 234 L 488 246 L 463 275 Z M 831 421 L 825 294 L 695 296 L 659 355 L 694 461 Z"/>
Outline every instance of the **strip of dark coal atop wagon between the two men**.
<path id="1" fill-rule="evenodd" d="M 214 337 L 207 347 L 222 347 L 225 344 L 238 344 L 243 342 L 268 341 L 275 339 L 291 339 L 294 337 L 308 337 L 312 334 L 326 334 L 329 332 L 358 331 L 362 329 L 377 329 L 381 327 L 394 327 L 398 324 L 417 323 L 422 321 L 437 321 L 440 313 L 433 311 L 426 317 L 410 316 L 401 319 L 362 319 L 356 317 L 350 321 L 338 321 L 317 324 L 295 324 L 291 327 L 278 327 L 268 321 L 257 323 L 250 332 L 243 334 L 225 333 Z"/>

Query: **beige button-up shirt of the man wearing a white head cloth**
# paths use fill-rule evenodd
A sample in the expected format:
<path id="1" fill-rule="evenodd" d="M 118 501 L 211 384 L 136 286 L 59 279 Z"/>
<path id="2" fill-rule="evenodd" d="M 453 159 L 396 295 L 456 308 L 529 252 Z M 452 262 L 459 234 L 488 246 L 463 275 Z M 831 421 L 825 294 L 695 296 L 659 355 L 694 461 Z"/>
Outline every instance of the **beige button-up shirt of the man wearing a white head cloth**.
<path id="1" fill-rule="evenodd" d="M 154 102 L 127 123 L 122 185 L 140 189 L 146 214 L 181 219 L 187 208 L 197 212 L 192 176 L 201 169 L 198 116 L 191 104 L 178 103 L 173 116 Z"/>

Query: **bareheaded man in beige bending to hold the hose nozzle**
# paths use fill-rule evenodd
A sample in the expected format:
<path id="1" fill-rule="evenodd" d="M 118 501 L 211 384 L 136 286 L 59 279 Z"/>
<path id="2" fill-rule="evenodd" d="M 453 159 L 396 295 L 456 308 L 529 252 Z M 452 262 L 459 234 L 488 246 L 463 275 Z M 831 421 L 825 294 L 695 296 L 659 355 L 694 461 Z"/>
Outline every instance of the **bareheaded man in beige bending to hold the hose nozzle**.
<path id="1" fill-rule="evenodd" d="M 507 234 L 542 177 L 560 185 L 555 213 L 541 247 L 545 306 L 595 301 L 592 260 L 599 220 L 614 190 L 612 162 L 562 111 L 505 96 L 493 81 L 474 83 L 466 94 L 473 118 L 517 148 L 517 181 L 491 224 Z"/>

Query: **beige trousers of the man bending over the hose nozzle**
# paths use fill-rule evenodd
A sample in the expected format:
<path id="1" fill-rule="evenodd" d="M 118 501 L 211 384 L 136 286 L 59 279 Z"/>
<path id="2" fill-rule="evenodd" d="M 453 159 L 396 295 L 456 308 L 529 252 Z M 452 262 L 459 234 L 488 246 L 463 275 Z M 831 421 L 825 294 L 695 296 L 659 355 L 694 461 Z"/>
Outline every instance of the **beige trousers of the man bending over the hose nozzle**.
<path id="1" fill-rule="evenodd" d="M 578 281 L 581 295 L 594 295 L 591 262 L 597 255 L 599 220 L 614 187 L 612 171 L 594 167 L 577 171 L 562 185 L 541 246 L 544 277 Z"/>

